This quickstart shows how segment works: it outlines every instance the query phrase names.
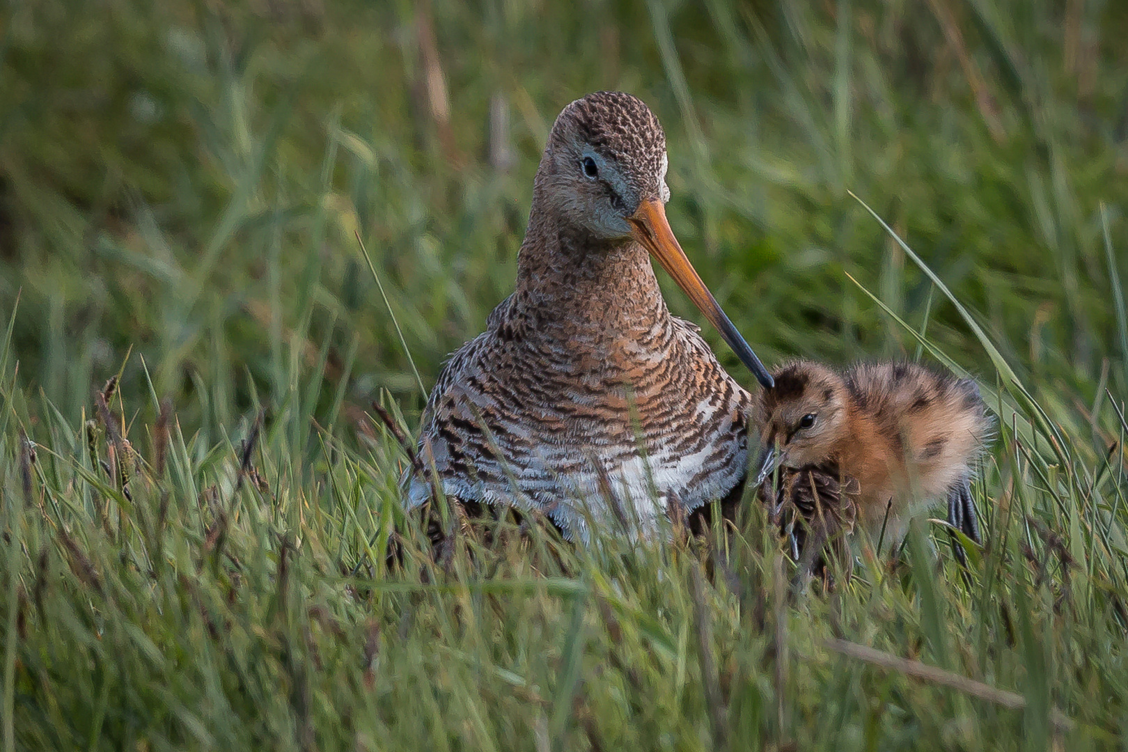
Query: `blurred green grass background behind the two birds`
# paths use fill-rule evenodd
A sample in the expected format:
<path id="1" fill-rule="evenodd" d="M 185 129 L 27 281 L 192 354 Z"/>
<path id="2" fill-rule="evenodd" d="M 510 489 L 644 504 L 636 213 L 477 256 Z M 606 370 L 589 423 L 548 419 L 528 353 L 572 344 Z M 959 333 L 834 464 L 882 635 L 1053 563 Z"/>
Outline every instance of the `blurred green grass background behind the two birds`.
<path id="1" fill-rule="evenodd" d="M 848 273 L 989 371 L 853 191 L 1041 392 L 1128 386 L 1121 2 L 37 0 L 0 24 L 0 310 L 20 297 L 21 382 L 70 418 L 130 348 L 126 387 L 147 366 L 205 427 L 323 357 L 346 405 L 416 412 L 354 232 L 430 387 L 512 286 L 553 118 L 602 88 L 664 124 L 672 227 L 766 361 L 915 353 Z"/>

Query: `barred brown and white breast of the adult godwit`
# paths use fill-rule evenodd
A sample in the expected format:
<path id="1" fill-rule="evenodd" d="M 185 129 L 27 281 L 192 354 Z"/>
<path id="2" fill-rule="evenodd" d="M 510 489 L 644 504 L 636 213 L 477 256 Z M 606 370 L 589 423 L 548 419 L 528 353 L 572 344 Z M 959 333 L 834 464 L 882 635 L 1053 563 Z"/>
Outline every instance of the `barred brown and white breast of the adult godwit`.
<path id="1" fill-rule="evenodd" d="M 669 504 L 732 489 L 747 471 L 748 393 L 691 326 L 659 325 L 622 338 L 487 336 L 456 357 L 425 432 L 448 493 L 537 507 L 587 537 L 589 519 L 625 512 L 653 529 Z"/>

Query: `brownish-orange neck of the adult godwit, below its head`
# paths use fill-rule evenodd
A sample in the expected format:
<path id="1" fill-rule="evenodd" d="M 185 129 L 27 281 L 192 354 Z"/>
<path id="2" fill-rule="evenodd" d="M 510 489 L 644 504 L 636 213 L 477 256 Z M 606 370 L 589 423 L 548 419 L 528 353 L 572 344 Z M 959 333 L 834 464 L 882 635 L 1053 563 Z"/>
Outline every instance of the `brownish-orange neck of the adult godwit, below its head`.
<path id="1" fill-rule="evenodd" d="M 624 335 L 666 325 L 670 313 L 634 240 L 607 241 L 534 203 L 517 263 L 514 304 L 541 320 Z"/>

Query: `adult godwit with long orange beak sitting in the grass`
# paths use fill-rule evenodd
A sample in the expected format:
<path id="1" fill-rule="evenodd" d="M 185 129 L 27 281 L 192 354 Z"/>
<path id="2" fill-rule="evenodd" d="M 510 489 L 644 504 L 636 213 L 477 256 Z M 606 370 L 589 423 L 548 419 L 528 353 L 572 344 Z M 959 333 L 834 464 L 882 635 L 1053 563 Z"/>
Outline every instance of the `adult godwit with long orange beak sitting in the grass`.
<path id="1" fill-rule="evenodd" d="M 625 511 L 647 531 L 739 495 L 751 398 L 698 328 L 670 316 L 650 257 L 763 384 L 772 377 L 675 239 L 666 169 L 662 127 L 628 94 L 588 95 L 556 118 L 517 287 L 424 410 L 420 454 L 448 496 L 537 510 L 587 539 L 589 520 Z M 408 508 L 431 496 L 421 475 Z"/>

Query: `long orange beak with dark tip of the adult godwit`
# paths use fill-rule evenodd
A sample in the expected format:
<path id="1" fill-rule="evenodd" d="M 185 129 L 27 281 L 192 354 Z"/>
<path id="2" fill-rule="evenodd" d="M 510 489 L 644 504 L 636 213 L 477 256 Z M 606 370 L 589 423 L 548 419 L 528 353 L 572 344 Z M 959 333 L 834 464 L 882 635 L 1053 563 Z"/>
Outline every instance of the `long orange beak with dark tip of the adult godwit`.
<path id="1" fill-rule="evenodd" d="M 766 389 L 775 386 L 772 374 L 767 372 L 760 359 L 748 346 L 744 338 L 732 325 L 729 317 L 721 310 L 721 306 L 713 298 L 702 278 L 697 276 L 685 251 L 678 245 L 678 239 L 673 237 L 670 223 L 666 221 L 666 209 L 660 201 L 644 201 L 638 206 L 638 211 L 628 218 L 634 230 L 635 239 L 650 251 L 650 255 L 658 259 L 673 281 L 678 283 L 689 300 L 705 315 L 710 324 L 716 327 L 724 340 L 737 353 L 740 362 L 748 366 L 756 380 Z"/>

